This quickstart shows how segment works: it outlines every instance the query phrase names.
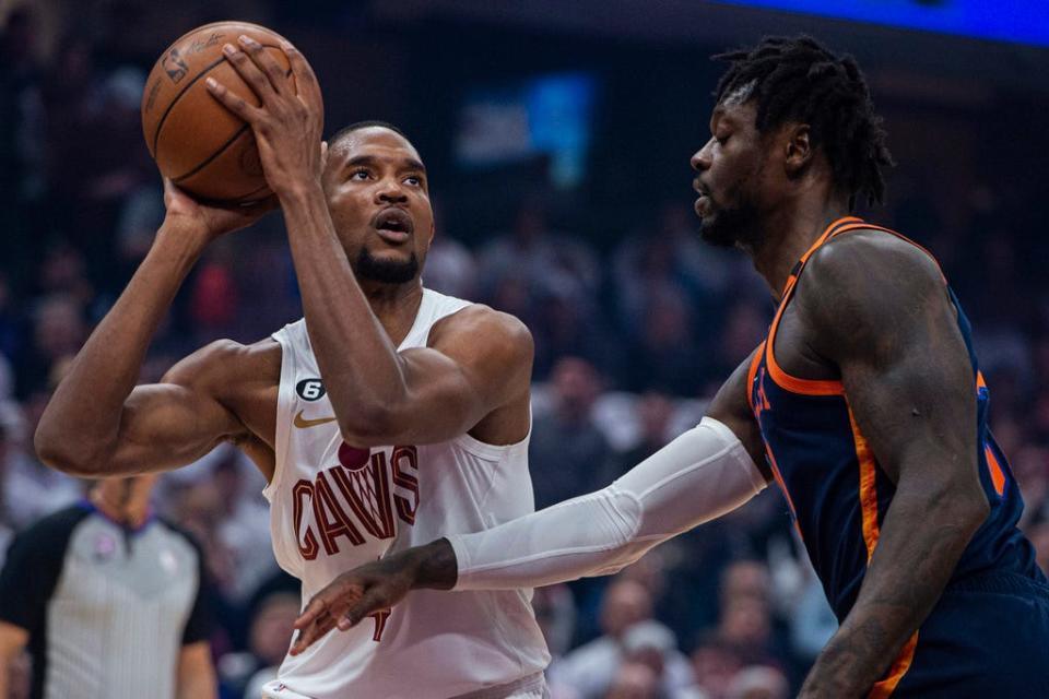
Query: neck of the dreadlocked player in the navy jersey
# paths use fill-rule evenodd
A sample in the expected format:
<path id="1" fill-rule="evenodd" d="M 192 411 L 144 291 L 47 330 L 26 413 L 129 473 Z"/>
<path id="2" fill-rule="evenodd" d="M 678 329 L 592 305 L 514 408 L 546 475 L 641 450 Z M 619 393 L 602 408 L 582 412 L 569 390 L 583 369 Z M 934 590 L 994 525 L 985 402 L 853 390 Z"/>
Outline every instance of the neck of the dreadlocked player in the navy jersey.
<path id="1" fill-rule="evenodd" d="M 762 244 L 750 251 L 754 269 L 779 298 L 790 271 L 834 221 L 849 215 L 848 200 L 828 194 L 799 197 L 765 217 Z"/>

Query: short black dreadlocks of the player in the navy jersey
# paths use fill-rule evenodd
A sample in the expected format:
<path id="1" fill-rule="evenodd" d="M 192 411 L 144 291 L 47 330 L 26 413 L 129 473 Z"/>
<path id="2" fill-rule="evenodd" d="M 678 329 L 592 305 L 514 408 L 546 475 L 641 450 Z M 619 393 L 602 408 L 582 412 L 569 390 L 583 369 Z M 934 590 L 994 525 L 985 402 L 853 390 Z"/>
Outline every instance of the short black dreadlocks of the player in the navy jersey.
<path id="1" fill-rule="evenodd" d="M 717 102 L 755 100 L 758 131 L 788 121 L 808 123 L 813 147 L 822 147 L 835 183 L 849 193 L 849 209 L 863 194 L 869 204 L 885 196 L 883 167 L 894 165 L 882 118 L 874 112 L 863 73 L 851 56 L 835 56 L 810 36 L 774 36 L 753 48 L 719 54 L 729 70 Z"/>

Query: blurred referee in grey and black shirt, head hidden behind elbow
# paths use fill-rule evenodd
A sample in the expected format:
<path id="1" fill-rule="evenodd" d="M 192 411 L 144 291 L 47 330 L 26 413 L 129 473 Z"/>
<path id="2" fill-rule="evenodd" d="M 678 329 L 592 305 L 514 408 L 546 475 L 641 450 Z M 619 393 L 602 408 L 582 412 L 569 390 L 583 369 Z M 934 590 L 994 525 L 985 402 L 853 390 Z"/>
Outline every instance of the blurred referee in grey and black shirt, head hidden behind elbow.
<path id="1" fill-rule="evenodd" d="M 26 647 L 33 699 L 216 697 L 202 557 L 151 514 L 155 481 L 101 481 L 14 538 L 0 572 L 0 698 Z"/>

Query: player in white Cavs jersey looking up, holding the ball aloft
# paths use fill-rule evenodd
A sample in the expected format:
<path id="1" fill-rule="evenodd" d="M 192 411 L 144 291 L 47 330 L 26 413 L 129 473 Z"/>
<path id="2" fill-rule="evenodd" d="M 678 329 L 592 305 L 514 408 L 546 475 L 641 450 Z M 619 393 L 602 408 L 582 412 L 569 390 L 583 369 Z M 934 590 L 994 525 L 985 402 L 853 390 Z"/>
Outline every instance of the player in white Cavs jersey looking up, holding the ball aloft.
<path id="1" fill-rule="evenodd" d="M 447 532 L 529 512 L 532 343 L 515 318 L 424 289 L 434 235 L 426 171 L 396 129 L 369 122 L 322 151 L 318 91 L 257 44 L 228 60 L 280 201 L 304 320 L 251 345 L 213 343 L 135 387 L 150 340 L 217 236 L 273 202 L 225 210 L 165 182 L 150 253 L 95 329 L 36 434 L 47 463 L 86 476 L 163 471 L 221 441 L 266 475 L 273 546 L 308 600 L 338 573 Z M 297 87 L 296 87 L 297 85 Z M 274 699 L 541 697 L 549 654 L 528 592 L 413 597 L 285 659 Z"/>

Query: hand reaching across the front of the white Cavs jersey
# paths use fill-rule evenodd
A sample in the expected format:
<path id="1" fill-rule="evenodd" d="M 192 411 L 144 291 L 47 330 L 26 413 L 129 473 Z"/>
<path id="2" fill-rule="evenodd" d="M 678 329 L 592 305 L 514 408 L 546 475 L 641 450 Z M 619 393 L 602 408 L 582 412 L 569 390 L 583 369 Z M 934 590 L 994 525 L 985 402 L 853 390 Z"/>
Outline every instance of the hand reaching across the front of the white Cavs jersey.
<path id="1" fill-rule="evenodd" d="M 333 628 L 349 630 L 369 614 L 392 607 L 412 589 L 417 569 L 415 549 L 409 549 L 335 578 L 295 620 L 298 638 L 291 654 L 298 655 Z"/>

